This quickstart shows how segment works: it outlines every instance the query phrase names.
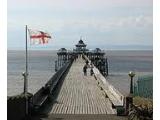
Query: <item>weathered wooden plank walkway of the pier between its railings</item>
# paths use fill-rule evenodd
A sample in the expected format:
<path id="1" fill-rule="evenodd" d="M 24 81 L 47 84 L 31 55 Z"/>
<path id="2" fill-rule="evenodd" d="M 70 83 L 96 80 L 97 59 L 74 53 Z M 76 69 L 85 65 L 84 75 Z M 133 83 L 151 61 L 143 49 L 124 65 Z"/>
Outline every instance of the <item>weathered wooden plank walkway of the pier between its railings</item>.
<path id="1" fill-rule="evenodd" d="M 97 81 L 83 74 L 85 61 L 73 62 L 49 114 L 116 114 Z"/>

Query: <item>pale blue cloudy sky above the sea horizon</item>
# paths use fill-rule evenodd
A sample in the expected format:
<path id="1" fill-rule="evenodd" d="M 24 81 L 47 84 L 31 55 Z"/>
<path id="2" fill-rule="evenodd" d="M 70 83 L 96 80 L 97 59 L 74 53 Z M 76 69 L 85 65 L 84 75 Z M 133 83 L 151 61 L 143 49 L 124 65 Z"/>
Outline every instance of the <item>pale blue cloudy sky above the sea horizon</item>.
<path id="1" fill-rule="evenodd" d="M 82 36 L 89 49 L 152 49 L 152 0 L 8 0 L 7 47 L 25 48 L 25 25 L 51 34 L 47 45 L 72 49 Z"/>

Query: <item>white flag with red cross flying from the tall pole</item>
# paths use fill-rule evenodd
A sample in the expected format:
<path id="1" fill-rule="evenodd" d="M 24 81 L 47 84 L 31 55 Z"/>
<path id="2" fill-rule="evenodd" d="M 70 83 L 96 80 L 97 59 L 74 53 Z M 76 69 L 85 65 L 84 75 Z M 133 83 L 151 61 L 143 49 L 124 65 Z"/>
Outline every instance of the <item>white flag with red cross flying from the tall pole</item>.
<path id="1" fill-rule="evenodd" d="M 31 45 L 35 44 L 47 44 L 51 36 L 43 31 L 28 29 L 30 35 Z"/>

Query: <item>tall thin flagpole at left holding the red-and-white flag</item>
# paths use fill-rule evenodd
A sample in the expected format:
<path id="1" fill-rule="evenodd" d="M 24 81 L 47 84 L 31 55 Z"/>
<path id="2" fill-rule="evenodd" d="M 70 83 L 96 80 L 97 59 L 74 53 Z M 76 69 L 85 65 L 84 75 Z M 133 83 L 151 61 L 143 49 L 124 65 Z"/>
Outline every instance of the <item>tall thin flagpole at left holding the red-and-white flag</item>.
<path id="1" fill-rule="evenodd" d="M 24 94 L 28 92 L 28 44 L 27 44 L 27 25 L 26 25 L 26 71 L 24 77 Z"/>

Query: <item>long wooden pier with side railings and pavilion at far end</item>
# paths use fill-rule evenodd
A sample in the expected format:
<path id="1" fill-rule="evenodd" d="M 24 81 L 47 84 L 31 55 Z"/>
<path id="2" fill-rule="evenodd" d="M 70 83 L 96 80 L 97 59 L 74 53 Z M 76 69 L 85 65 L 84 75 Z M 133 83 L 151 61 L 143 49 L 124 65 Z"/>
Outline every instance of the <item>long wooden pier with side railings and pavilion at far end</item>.
<path id="1" fill-rule="evenodd" d="M 72 119 L 126 119 L 121 116 L 126 114 L 129 99 L 106 80 L 108 61 L 103 51 L 96 48 L 91 52 L 80 40 L 73 51 L 61 48 L 57 55 L 56 73 L 35 94 L 25 96 L 27 106 L 25 102 L 19 103 L 27 107 L 27 116 L 44 120 L 69 119 L 68 116 Z M 86 64 L 87 75 L 84 75 L 83 67 Z M 91 69 L 93 69 L 92 75 Z M 17 99 L 21 98 L 8 98 L 8 107 L 16 107 L 17 104 L 14 102 Z M 24 117 L 26 107 L 20 108 Z M 9 119 L 21 114 L 14 113 L 12 109 L 8 112 Z"/>

